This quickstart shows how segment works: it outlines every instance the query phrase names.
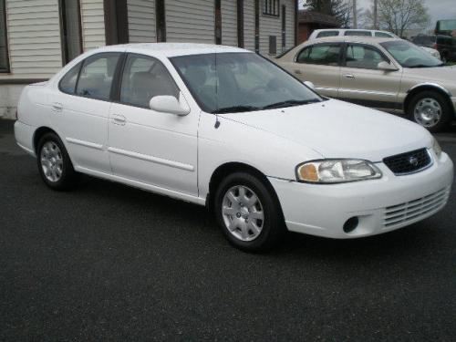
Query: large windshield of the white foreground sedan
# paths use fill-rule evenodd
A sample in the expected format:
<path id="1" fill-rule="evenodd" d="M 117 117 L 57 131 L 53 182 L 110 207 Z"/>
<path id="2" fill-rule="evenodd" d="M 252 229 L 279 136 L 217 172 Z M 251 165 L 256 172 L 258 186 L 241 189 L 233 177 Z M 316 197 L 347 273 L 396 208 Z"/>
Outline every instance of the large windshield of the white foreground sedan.
<path id="1" fill-rule="evenodd" d="M 289 107 L 322 98 L 280 67 L 254 53 L 171 57 L 202 109 L 229 113 Z"/>

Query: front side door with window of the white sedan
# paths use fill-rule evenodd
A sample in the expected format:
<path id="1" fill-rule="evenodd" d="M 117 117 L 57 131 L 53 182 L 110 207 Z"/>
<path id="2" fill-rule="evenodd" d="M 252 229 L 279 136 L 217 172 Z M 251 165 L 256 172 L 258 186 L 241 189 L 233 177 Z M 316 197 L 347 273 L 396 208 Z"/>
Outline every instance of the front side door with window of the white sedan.
<path id="1" fill-rule="evenodd" d="M 200 110 L 178 116 L 150 109 L 150 98 L 155 96 L 183 97 L 170 72 L 154 57 L 128 54 L 118 92 L 118 101 L 109 111 L 108 150 L 113 174 L 197 195 Z"/>

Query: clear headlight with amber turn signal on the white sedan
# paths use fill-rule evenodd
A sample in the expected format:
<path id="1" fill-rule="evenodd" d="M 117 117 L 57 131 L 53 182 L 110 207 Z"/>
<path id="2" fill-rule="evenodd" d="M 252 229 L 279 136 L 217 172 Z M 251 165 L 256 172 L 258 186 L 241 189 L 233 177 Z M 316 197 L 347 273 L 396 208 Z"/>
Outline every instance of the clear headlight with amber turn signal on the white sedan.
<path id="1" fill-rule="evenodd" d="M 377 179 L 381 177 L 381 172 L 370 161 L 328 159 L 298 165 L 296 177 L 297 181 L 340 183 Z"/>

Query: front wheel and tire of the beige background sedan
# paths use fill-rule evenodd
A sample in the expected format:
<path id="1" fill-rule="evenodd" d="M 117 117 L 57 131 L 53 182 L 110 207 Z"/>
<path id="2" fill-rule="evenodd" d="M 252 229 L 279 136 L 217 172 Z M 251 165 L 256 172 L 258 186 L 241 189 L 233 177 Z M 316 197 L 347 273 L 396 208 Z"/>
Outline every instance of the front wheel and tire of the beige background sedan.
<path id="1" fill-rule="evenodd" d="M 425 90 L 411 99 L 408 116 L 409 119 L 435 133 L 450 126 L 452 110 L 443 95 L 437 91 Z"/>

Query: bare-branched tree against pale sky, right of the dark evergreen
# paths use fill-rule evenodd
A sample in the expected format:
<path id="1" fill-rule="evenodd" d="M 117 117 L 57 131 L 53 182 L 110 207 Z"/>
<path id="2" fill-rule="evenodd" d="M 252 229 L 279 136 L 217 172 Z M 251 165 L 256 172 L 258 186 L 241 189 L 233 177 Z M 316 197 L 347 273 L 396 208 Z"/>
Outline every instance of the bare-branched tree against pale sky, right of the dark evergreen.
<path id="1" fill-rule="evenodd" d="M 368 26 L 374 26 L 374 8 L 366 12 Z M 397 36 L 411 28 L 426 28 L 430 16 L 424 0 L 378 0 L 378 27 Z"/>

